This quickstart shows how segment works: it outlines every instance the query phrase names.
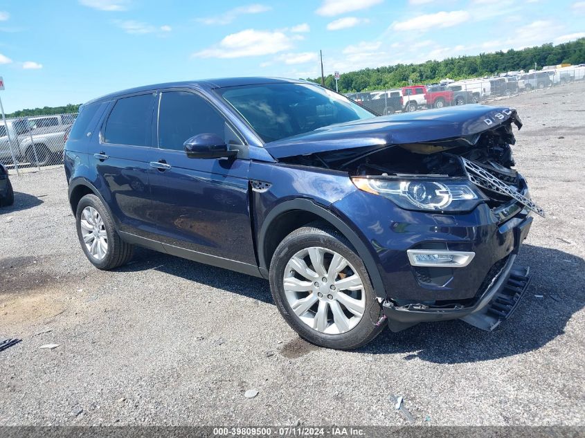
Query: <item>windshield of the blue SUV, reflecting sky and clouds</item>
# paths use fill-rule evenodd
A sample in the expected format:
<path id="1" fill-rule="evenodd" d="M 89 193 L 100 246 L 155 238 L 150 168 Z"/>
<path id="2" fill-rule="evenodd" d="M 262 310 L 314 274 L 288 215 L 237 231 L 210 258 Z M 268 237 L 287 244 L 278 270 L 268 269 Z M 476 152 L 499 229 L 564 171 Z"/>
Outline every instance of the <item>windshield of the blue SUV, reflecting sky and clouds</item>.
<path id="1" fill-rule="evenodd" d="M 311 84 L 258 84 L 216 90 L 264 142 L 334 123 L 375 117 L 343 95 Z"/>

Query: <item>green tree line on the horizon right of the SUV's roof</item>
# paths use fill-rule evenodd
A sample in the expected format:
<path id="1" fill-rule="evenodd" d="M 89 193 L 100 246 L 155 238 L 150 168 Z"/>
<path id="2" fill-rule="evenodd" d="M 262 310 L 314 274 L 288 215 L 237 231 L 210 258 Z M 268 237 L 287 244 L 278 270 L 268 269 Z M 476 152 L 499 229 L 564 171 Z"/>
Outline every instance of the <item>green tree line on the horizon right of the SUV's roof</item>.
<path id="1" fill-rule="evenodd" d="M 573 42 L 543 44 L 520 51 L 480 53 L 479 55 L 450 57 L 442 61 L 426 61 L 422 64 L 396 64 L 394 66 L 361 69 L 343 73 L 339 77 L 339 92 L 373 91 L 399 88 L 412 84 L 429 84 L 449 78 L 453 80 L 492 76 L 508 71 L 527 71 L 557 64 L 581 64 L 585 62 L 585 38 Z M 306 78 L 321 84 L 321 77 Z M 325 86 L 335 89 L 333 75 L 325 77 Z"/>

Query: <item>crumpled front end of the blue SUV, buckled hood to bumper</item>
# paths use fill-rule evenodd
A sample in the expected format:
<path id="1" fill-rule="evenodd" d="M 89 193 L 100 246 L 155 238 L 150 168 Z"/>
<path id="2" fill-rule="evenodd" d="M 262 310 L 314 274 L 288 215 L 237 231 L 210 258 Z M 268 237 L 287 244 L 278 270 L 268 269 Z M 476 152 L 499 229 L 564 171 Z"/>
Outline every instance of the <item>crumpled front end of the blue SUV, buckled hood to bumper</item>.
<path id="1" fill-rule="evenodd" d="M 528 268 L 514 262 L 531 212 L 544 211 L 514 169 L 512 125 L 520 129 L 521 121 L 514 109 L 467 107 L 333 125 L 267 144 L 280 163 L 347 172 L 359 192 L 374 195 L 336 207 L 359 205 L 363 211 L 348 216 L 375 230 L 368 239 L 393 331 L 458 318 L 492 330 L 530 282 Z M 301 146 L 307 143 L 314 152 Z"/>

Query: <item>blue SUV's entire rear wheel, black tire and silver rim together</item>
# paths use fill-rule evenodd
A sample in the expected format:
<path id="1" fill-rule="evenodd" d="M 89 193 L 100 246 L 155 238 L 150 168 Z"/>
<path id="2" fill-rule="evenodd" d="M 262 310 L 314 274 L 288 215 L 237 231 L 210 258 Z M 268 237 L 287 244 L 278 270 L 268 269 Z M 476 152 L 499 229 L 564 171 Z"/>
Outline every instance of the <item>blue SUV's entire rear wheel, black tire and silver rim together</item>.
<path id="1" fill-rule="evenodd" d="M 96 217 L 91 217 L 91 221 L 89 221 L 89 217 L 87 217 L 84 213 L 85 211 L 95 211 L 98 215 Z M 110 269 L 118 268 L 118 266 L 126 264 L 130 261 L 130 259 L 132 259 L 134 246 L 127 244 L 125 241 L 120 239 L 120 235 L 118 235 L 118 232 L 114 227 L 114 222 L 112 221 L 107 208 L 105 208 L 102 201 L 100 201 L 100 199 L 96 197 L 95 194 L 86 194 L 79 201 L 78 208 L 75 212 L 75 223 L 77 225 L 78 238 L 81 248 L 89 262 L 91 262 L 93 266 L 96 266 L 96 268 L 109 271 Z M 93 228 L 93 232 L 99 230 L 100 235 L 102 235 L 101 233 L 105 232 L 105 234 L 102 235 L 105 237 L 106 241 L 105 251 L 103 250 L 103 246 L 100 246 L 100 239 L 102 239 L 102 237 L 100 237 L 100 239 L 97 239 L 98 242 L 96 242 L 95 247 L 96 251 L 99 252 L 96 255 L 92 255 L 91 248 L 88 248 L 88 245 L 91 244 L 93 248 L 93 241 L 96 240 L 96 237 L 93 237 L 93 239 L 88 239 L 88 245 L 85 243 L 83 233 L 88 232 L 88 226 Z"/>

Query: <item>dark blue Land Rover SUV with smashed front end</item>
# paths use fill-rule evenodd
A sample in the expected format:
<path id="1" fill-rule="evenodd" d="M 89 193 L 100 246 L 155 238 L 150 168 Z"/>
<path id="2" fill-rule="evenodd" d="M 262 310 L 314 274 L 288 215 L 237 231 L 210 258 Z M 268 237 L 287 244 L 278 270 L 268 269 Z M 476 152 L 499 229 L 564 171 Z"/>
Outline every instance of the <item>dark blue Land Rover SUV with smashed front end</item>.
<path id="1" fill-rule="evenodd" d="M 494 329 L 528 285 L 514 109 L 377 116 L 311 82 L 176 82 L 84 104 L 64 151 L 82 250 L 144 246 L 270 281 L 300 336 L 354 349 L 388 325 Z"/>

